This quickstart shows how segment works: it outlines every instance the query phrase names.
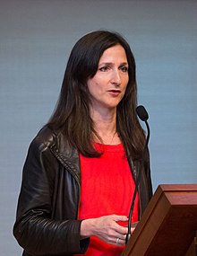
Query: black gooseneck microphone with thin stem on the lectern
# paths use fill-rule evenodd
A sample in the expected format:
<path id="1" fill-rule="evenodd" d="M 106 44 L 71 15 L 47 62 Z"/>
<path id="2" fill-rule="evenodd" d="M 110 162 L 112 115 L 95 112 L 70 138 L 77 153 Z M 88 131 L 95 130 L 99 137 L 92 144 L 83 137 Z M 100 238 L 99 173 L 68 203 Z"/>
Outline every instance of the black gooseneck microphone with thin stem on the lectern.
<path id="1" fill-rule="evenodd" d="M 138 115 L 139 119 L 141 119 L 141 121 L 145 122 L 146 128 L 147 128 L 146 142 L 145 142 L 145 146 L 144 146 L 142 156 L 141 156 L 141 165 L 140 166 L 142 168 L 142 164 L 144 162 L 144 156 L 145 156 L 146 150 L 148 149 L 148 144 L 149 144 L 149 140 L 150 140 L 150 126 L 149 126 L 148 121 L 147 121 L 149 119 L 149 114 L 148 114 L 147 110 L 145 110 L 145 108 L 141 105 L 136 108 L 136 112 L 137 112 L 137 115 Z M 132 205 L 131 205 L 130 212 L 129 212 L 128 233 L 126 234 L 125 243 L 127 243 L 129 241 L 129 239 L 131 238 L 131 235 L 132 235 L 131 234 L 131 227 L 132 227 L 133 208 L 134 208 L 134 202 L 135 202 L 135 199 L 136 199 L 136 196 L 137 196 L 138 185 L 139 185 L 140 180 L 141 180 L 141 168 L 139 170 L 138 176 L 137 176 L 136 181 L 135 181 L 135 190 L 133 192 L 133 200 L 132 200 Z"/>

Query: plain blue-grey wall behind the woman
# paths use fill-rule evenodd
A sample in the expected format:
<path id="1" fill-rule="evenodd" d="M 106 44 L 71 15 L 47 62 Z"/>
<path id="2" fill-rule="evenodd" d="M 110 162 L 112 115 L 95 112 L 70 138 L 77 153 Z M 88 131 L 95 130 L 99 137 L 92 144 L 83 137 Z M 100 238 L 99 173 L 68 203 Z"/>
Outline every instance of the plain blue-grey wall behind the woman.
<path id="1" fill-rule="evenodd" d="M 197 182 L 196 1 L 0 1 L 0 252 L 12 235 L 30 140 L 53 111 L 73 44 L 109 29 L 130 42 L 139 103 L 150 114 L 154 190 Z"/>

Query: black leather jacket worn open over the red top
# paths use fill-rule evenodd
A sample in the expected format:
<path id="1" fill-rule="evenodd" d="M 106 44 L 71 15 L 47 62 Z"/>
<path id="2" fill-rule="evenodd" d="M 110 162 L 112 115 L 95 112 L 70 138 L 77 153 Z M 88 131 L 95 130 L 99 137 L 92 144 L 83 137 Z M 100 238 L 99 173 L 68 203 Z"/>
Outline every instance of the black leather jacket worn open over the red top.
<path id="1" fill-rule="evenodd" d="M 133 177 L 137 163 L 133 163 Z M 13 234 L 22 255 L 71 256 L 86 252 L 89 239 L 80 240 L 81 195 L 79 154 L 62 133 L 43 128 L 31 142 L 23 167 Z M 152 196 L 149 161 L 141 172 L 141 213 Z M 131 195 L 132 197 L 132 195 Z"/>

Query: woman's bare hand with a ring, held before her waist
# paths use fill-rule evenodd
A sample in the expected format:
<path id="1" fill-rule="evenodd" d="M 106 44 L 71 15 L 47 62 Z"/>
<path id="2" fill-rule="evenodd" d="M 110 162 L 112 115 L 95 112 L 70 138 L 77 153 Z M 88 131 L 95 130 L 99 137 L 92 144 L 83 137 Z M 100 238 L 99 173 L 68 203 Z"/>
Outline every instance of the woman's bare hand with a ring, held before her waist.
<path id="1" fill-rule="evenodd" d="M 100 216 L 98 218 L 90 218 L 81 222 L 81 238 L 97 236 L 100 240 L 116 244 L 124 245 L 125 236 L 128 232 L 126 226 L 118 225 L 117 222 L 128 221 L 127 216 Z M 133 228 L 132 228 L 133 232 Z"/>

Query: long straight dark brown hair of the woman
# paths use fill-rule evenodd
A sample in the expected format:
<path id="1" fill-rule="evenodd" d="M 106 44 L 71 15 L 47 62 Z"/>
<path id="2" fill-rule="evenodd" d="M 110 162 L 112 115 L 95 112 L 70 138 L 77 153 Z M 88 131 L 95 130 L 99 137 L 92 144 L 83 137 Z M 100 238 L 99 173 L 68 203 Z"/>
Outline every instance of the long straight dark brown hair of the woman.
<path id="1" fill-rule="evenodd" d="M 129 82 L 124 98 L 117 106 L 116 131 L 126 154 L 140 159 L 145 137 L 136 116 L 135 60 L 129 44 L 116 32 L 93 31 L 76 42 L 67 62 L 56 109 L 47 125 L 61 130 L 70 145 L 75 146 L 81 154 L 89 157 L 100 155 L 92 146 L 93 137 L 97 134 L 90 118 L 87 80 L 96 74 L 103 52 L 117 44 L 126 53 Z"/>

